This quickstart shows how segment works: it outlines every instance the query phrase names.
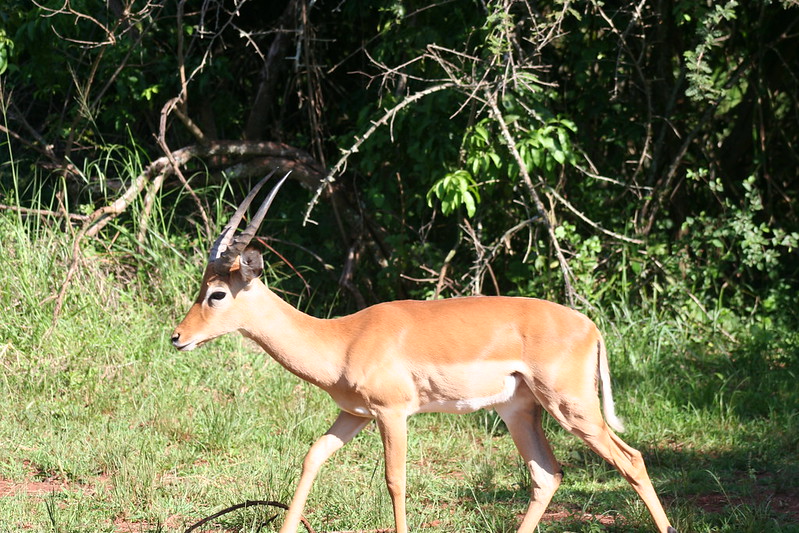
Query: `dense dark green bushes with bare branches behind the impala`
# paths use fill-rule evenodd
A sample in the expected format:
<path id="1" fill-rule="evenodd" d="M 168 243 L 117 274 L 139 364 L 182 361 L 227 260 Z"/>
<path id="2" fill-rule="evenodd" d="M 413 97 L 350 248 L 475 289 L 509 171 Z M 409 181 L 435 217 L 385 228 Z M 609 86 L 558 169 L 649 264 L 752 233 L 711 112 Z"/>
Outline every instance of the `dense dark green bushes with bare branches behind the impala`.
<path id="1" fill-rule="evenodd" d="M 145 241 L 163 201 L 177 248 L 203 250 L 177 235 L 284 168 L 311 192 L 282 193 L 264 232 L 343 308 L 795 315 L 796 2 L 11 0 L 0 20 L 4 203 L 44 188 L 91 213 L 165 153 L 213 148 L 145 172 L 101 240 Z"/>

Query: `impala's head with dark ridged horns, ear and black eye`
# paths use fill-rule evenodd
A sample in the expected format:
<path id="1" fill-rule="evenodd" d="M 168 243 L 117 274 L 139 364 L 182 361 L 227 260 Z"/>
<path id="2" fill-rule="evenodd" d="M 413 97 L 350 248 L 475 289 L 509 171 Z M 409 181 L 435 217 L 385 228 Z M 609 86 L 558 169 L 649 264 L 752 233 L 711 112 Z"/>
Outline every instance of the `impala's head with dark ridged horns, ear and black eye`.
<path id="1" fill-rule="evenodd" d="M 264 288 L 260 280 L 263 258 L 260 251 L 249 244 L 288 174 L 270 191 L 244 231 L 236 235 L 236 229 L 255 195 L 273 174 L 274 171 L 253 187 L 211 247 L 200 294 L 172 333 L 172 345 L 178 350 L 193 350 L 204 342 L 244 327 L 250 315 L 247 302 L 252 293 L 257 292 L 253 289 Z"/>

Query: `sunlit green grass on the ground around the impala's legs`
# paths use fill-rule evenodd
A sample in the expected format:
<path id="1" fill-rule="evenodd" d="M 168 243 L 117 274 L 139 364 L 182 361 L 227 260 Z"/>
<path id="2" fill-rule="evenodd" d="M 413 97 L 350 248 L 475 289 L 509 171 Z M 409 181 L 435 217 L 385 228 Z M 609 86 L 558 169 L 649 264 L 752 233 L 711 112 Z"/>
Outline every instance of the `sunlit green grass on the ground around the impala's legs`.
<path id="1" fill-rule="evenodd" d="M 288 502 L 335 416 L 324 393 L 240 337 L 173 350 L 203 254 L 156 236 L 130 266 L 126 238 L 84 249 L 49 331 L 70 237 L 52 220 L 0 213 L 0 533 L 183 531 L 244 500 Z M 674 525 L 799 531 L 797 334 L 742 324 L 737 342 L 699 339 L 645 309 L 600 322 L 625 439 Z M 541 531 L 652 530 L 615 471 L 551 420 L 547 432 L 566 476 Z M 529 479 L 494 415 L 413 417 L 408 461 L 412 529 L 515 531 Z M 272 514 L 213 528 L 276 531 L 261 527 Z M 373 426 L 323 469 L 306 515 L 321 531 L 392 525 Z"/>

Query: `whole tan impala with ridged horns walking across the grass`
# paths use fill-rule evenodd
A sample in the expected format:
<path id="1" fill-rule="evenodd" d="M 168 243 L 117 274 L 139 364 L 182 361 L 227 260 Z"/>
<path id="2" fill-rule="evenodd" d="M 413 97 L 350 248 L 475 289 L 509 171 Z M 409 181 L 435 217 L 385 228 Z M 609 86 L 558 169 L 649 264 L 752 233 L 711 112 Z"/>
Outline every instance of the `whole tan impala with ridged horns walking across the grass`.
<path id="1" fill-rule="evenodd" d="M 563 475 L 541 427 L 546 410 L 619 470 L 658 531 L 676 533 L 641 453 L 611 429 L 621 431 L 622 425 L 614 414 L 605 343 L 591 320 L 548 301 L 500 296 L 387 302 L 334 319 L 306 315 L 264 285 L 263 258 L 249 246 L 286 177 L 236 235 L 270 176 L 252 189 L 214 242 L 200 294 L 172 344 L 191 350 L 239 331 L 339 406 L 333 425 L 305 456 L 282 533 L 296 533 L 322 464 L 371 420 L 383 442 L 396 531 L 406 533 L 407 418 L 477 409 L 499 414 L 530 471 L 530 504 L 519 532 L 535 529 Z"/>

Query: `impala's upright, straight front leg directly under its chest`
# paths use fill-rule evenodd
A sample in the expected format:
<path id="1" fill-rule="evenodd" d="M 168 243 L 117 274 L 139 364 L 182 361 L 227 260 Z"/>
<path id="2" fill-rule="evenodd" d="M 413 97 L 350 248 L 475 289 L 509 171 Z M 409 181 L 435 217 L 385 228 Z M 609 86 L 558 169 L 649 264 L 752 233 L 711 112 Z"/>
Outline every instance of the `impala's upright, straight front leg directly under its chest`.
<path id="1" fill-rule="evenodd" d="M 408 420 L 404 413 L 381 414 L 377 427 L 386 456 L 386 486 L 394 507 L 397 533 L 408 533 L 405 516 L 405 456 L 408 451 Z"/>

